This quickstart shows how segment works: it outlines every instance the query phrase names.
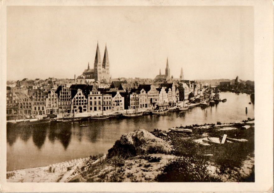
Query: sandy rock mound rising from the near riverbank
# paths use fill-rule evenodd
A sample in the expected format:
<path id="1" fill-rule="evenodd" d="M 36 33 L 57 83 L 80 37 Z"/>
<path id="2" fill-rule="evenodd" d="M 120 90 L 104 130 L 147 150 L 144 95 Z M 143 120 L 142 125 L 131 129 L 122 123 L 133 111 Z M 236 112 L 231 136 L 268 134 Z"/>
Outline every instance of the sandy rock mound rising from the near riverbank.
<path id="1" fill-rule="evenodd" d="M 108 158 L 136 156 L 142 154 L 169 154 L 172 150 L 164 140 L 150 132 L 140 129 L 121 136 L 108 150 Z"/>

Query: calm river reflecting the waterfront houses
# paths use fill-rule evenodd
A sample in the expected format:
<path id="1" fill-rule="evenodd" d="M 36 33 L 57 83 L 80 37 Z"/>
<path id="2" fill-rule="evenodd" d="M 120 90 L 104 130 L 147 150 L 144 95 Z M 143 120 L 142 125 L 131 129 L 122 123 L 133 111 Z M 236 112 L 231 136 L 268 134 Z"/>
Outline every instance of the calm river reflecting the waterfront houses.
<path id="1" fill-rule="evenodd" d="M 221 92 L 220 98 L 227 101 L 165 115 L 83 122 L 89 124 L 88 127 L 80 127 L 76 122 L 7 128 L 7 171 L 106 154 L 121 135 L 137 129 L 167 130 L 180 125 L 228 123 L 254 118 L 254 104 L 249 104 L 250 95 Z"/>

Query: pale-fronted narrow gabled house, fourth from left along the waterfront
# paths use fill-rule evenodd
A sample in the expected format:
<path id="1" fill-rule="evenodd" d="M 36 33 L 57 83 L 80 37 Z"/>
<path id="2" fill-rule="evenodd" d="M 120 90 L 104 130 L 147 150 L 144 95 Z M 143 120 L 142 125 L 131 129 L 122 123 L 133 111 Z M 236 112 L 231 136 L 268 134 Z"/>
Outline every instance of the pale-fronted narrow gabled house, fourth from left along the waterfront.
<path id="1" fill-rule="evenodd" d="M 46 114 L 58 113 L 58 96 L 54 90 L 50 90 L 46 95 Z"/>

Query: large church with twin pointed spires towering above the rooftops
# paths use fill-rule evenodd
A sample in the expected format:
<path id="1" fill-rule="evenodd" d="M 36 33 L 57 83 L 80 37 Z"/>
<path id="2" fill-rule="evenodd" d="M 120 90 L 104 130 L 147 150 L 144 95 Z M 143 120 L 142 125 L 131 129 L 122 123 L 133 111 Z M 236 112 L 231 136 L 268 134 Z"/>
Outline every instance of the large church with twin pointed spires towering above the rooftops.
<path id="1" fill-rule="evenodd" d="M 103 62 L 101 61 L 101 55 L 99 50 L 99 44 L 97 43 L 95 60 L 94 60 L 94 68 L 90 68 L 90 64 L 88 63 L 87 69 L 78 76 L 77 79 L 89 79 L 90 81 L 104 81 L 109 82 L 110 80 L 110 70 L 109 70 L 109 56 L 107 45 L 104 50 Z"/>

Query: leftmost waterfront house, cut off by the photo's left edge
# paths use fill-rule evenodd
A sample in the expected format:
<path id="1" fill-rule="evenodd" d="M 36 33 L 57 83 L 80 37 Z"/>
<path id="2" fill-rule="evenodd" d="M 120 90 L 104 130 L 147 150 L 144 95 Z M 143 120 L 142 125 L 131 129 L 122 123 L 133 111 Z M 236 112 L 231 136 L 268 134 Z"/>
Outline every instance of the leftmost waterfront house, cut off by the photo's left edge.
<path id="1" fill-rule="evenodd" d="M 7 86 L 7 120 L 14 120 L 18 116 L 18 96 L 11 92 L 11 87 Z"/>

